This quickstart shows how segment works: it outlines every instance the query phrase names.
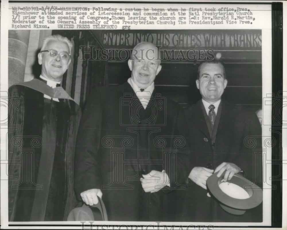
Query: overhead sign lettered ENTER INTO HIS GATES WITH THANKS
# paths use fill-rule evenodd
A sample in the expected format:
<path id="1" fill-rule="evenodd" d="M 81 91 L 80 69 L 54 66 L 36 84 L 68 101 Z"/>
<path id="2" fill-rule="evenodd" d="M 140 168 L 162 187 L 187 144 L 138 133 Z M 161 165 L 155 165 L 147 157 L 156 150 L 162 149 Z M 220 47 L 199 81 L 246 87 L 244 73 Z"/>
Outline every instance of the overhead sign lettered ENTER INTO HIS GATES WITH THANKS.
<path id="1" fill-rule="evenodd" d="M 105 48 L 133 48 L 143 41 L 165 49 L 261 51 L 262 46 L 261 30 L 102 30 L 101 41 Z"/>

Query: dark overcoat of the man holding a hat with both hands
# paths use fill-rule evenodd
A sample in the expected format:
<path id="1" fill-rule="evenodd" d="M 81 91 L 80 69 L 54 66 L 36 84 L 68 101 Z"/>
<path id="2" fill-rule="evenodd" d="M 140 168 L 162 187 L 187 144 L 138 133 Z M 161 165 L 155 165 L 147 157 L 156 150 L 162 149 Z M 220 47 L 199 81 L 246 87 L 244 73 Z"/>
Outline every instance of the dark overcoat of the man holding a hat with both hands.
<path id="1" fill-rule="evenodd" d="M 250 113 L 240 106 L 229 104 L 222 100 L 221 115 L 218 123 L 215 143 L 208 131 L 202 107 L 202 101 L 185 109 L 179 116 L 179 129 L 185 131 L 191 161 L 189 172 L 195 166 L 201 166 L 215 170 L 222 162 L 231 162 L 239 166 L 245 177 L 253 181 L 253 147 L 261 147 L 261 127 L 255 113 Z M 186 122 L 183 122 L 186 120 Z M 186 129 L 187 127 L 187 129 Z M 214 135 L 214 133 L 213 133 Z M 245 138 L 257 136 L 256 144 L 248 147 Z M 213 137 L 214 139 L 214 137 Z M 256 164 L 257 162 L 255 162 Z M 257 172 L 255 177 L 259 177 Z M 187 180 L 187 189 L 177 192 L 177 196 L 184 199 L 181 212 L 181 221 L 261 221 L 262 209 L 254 208 L 242 216 L 235 216 L 225 212 L 213 197 L 207 196 L 207 190 L 201 188 L 191 180 Z M 254 211 L 255 210 L 255 211 Z"/>

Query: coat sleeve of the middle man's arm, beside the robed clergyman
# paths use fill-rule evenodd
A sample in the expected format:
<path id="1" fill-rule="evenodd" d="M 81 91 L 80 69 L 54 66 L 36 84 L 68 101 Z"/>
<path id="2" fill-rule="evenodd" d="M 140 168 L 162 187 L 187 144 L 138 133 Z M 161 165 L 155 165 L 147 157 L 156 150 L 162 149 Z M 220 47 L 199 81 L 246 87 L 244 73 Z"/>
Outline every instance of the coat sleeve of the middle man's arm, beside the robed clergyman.
<path id="1" fill-rule="evenodd" d="M 101 188 L 100 142 L 102 126 L 102 102 L 98 90 L 89 96 L 83 111 L 77 135 L 75 151 L 75 192 Z"/>

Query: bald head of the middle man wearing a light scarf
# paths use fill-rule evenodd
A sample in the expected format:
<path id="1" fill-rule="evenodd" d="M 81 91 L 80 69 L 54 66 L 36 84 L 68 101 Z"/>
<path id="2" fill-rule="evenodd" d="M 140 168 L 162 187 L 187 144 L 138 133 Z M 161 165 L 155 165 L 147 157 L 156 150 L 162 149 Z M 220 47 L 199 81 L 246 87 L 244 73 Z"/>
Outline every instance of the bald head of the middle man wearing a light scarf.
<path id="1" fill-rule="evenodd" d="M 146 89 L 161 70 L 159 51 L 152 43 L 141 42 L 133 48 L 128 65 L 135 84 Z"/>

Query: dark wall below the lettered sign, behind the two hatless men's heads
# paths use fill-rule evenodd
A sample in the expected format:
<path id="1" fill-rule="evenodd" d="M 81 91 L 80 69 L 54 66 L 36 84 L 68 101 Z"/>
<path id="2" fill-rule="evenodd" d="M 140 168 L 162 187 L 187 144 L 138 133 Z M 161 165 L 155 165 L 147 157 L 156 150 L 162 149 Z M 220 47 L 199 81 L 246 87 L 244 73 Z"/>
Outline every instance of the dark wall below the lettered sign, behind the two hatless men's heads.
<path id="1" fill-rule="evenodd" d="M 171 97 L 184 107 L 201 98 L 195 80 L 199 64 L 170 64 L 162 62 L 162 70 L 155 79 L 155 85 L 164 96 Z M 255 109 L 262 101 L 261 64 L 224 64 L 228 85 L 222 98 L 247 108 Z M 108 64 L 108 85 L 119 85 L 130 77 L 127 63 Z"/>

